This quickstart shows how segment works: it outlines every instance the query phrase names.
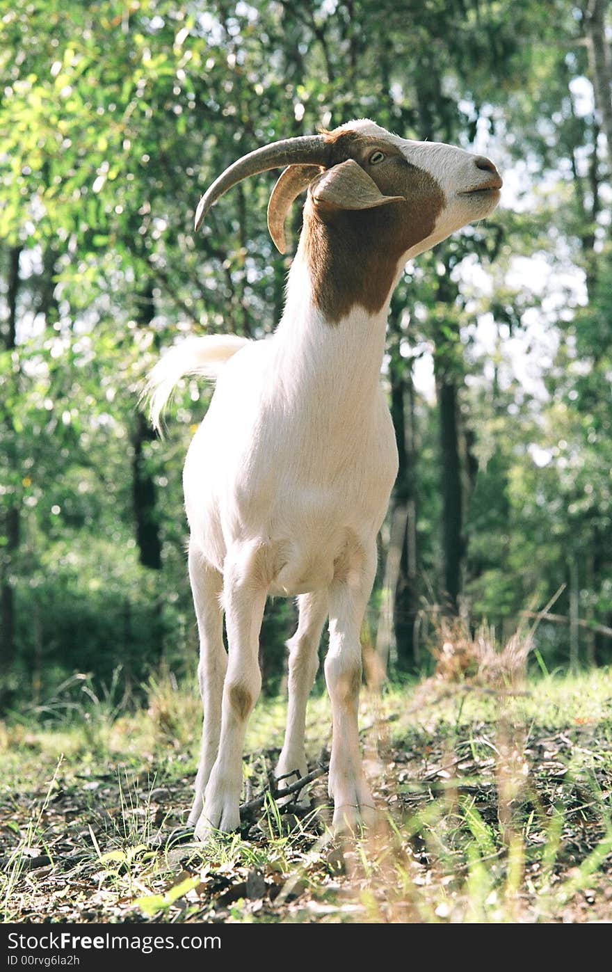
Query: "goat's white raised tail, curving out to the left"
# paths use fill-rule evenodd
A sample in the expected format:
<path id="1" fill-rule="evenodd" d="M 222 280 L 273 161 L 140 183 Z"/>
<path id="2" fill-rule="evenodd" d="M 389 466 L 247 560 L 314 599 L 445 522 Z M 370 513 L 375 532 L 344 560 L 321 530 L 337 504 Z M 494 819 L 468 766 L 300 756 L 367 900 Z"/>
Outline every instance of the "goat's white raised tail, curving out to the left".
<path id="1" fill-rule="evenodd" d="M 144 393 L 154 428 L 159 429 L 161 412 L 181 378 L 187 374 L 217 378 L 227 359 L 246 344 L 249 339 L 237 334 L 207 334 L 170 348 L 153 367 Z"/>

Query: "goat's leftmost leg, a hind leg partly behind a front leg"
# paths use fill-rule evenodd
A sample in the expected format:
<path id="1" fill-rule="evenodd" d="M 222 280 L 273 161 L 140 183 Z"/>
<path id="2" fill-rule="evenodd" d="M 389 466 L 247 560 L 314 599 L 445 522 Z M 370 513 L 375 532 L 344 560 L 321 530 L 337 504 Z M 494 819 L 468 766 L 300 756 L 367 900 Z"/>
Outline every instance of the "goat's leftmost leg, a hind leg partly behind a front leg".
<path id="1" fill-rule="evenodd" d="M 193 826 L 202 812 L 204 790 L 219 751 L 221 697 L 227 669 L 227 654 L 223 646 L 221 573 L 202 558 L 192 543 L 189 545 L 188 562 L 191 593 L 200 636 L 200 661 L 197 675 L 204 710 L 202 747 L 195 778 L 195 797 L 188 817 L 189 826 Z"/>

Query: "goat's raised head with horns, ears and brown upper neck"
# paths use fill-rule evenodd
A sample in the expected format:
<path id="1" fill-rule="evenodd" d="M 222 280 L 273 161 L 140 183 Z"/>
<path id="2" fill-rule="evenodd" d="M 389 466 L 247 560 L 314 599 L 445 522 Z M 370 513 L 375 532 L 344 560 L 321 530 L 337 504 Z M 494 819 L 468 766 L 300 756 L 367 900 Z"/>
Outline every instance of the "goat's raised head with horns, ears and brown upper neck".
<path id="1" fill-rule="evenodd" d="M 234 162 L 200 199 L 195 228 L 223 192 L 280 166 L 287 168 L 270 196 L 270 234 L 284 253 L 289 208 L 308 190 L 304 246 L 316 302 L 332 319 L 356 302 L 379 310 L 406 260 L 488 216 L 501 189 L 489 158 L 399 138 L 361 119 L 320 135 L 274 142 Z M 362 283 L 367 267 L 377 281 L 374 288 Z M 333 298 L 325 295 L 329 278 L 336 282 Z"/>

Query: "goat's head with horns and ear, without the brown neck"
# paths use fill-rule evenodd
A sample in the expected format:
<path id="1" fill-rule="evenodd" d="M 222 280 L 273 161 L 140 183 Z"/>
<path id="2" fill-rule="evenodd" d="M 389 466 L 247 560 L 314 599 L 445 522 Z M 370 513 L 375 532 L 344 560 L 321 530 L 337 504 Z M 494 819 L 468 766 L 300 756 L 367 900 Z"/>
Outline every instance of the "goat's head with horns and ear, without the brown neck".
<path id="1" fill-rule="evenodd" d="M 501 178 L 489 158 L 438 142 L 392 135 L 373 121 L 349 121 L 330 132 L 290 138 L 243 156 L 200 199 L 199 228 L 223 192 L 249 175 L 287 165 L 272 191 L 268 226 L 281 253 L 289 207 L 308 190 L 311 205 L 332 218 L 335 210 L 363 211 L 393 205 L 399 238 L 393 249 L 412 257 L 474 220 L 489 216 Z M 398 214 L 398 215 L 399 215 Z"/>

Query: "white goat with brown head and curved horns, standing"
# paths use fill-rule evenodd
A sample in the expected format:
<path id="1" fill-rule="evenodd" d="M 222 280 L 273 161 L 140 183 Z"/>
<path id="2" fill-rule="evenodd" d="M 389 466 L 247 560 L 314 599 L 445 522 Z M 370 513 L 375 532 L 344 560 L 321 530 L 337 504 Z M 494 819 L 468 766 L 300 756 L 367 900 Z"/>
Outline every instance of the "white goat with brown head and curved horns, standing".
<path id="1" fill-rule="evenodd" d="M 391 293 L 406 260 L 488 216 L 501 188 L 488 158 L 350 121 L 234 162 L 202 196 L 196 230 L 223 192 L 281 166 L 268 226 L 282 253 L 289 207 L 308 194 L 277 329 L 257 341 L 191 339 L 166 354 L 150 379 L 155 424 L 182 375 L 217 379 L 184 469 L 204 710 L 189 816 L 199 839 L 240 823 L 242 749 L 261 687 L 258 638 L 268 595 L 297 597 L 299 609 L 276 775 L 306 773 L 306 703 L 328 616 L 333 827 L 354 829 L 375 813 L 359 754 L 359 630 L 397 474 L 379 385 Z"/>

